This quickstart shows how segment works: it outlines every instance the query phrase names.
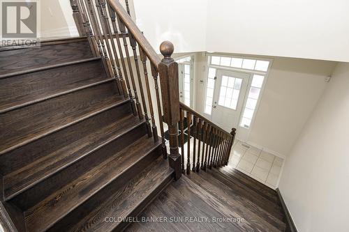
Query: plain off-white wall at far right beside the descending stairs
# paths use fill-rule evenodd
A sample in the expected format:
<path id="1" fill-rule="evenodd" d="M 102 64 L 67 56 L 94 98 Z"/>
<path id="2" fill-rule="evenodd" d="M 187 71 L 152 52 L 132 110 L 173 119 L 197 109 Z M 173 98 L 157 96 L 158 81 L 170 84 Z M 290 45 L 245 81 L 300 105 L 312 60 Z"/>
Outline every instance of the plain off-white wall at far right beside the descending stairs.
<path id="1" fill-rule="evenodd" d="M 279 184 L 298 231 L 348 231 L 348 118 L 349 63 L 340 63 Z"/>

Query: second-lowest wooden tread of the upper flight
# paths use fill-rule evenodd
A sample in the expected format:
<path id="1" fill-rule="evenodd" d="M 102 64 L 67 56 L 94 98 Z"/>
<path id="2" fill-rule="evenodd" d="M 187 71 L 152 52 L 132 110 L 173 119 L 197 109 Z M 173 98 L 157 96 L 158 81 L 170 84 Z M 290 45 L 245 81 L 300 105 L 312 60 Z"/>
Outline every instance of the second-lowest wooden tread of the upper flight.
<path id="1" fill-rule="evenodd" d="M 45 231 L 161 143 L 145 135 L 24 212 L 28 231 Z"/>

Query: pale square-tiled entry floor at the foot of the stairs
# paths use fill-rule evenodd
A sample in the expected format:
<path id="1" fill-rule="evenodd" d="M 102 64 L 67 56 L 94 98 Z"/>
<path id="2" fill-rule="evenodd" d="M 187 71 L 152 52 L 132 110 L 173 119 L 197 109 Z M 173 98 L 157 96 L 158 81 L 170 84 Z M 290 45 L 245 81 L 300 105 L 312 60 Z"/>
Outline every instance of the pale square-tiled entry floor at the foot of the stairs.
<path id="1" fill-rule="evenodd" d="M 275 189 L 283 159 L 237 140 L 228 165 Z"/>

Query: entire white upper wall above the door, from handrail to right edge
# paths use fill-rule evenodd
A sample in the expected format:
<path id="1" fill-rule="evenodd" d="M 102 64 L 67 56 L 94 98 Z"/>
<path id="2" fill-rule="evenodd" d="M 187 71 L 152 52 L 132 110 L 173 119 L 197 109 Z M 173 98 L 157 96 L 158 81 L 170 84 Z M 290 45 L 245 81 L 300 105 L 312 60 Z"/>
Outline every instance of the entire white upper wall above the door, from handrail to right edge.
<path id="1" fill-rule="evenodd" d="M 347 0 L 134 0 L 137 22 L 158 51 L 231 52 L 349 61 Z"/>

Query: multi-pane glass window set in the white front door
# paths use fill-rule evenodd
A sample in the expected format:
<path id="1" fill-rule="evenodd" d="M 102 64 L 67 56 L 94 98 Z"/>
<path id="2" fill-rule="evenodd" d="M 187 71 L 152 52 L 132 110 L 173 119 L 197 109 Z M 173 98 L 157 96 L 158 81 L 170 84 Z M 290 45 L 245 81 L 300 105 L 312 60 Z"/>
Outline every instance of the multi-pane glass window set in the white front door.
<path id="1" fill-rule="evenodd" d="M 223 75 L 218 105 L 236 110 L 241 86 L 242 79 Z"/>

